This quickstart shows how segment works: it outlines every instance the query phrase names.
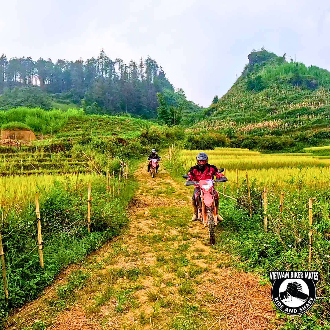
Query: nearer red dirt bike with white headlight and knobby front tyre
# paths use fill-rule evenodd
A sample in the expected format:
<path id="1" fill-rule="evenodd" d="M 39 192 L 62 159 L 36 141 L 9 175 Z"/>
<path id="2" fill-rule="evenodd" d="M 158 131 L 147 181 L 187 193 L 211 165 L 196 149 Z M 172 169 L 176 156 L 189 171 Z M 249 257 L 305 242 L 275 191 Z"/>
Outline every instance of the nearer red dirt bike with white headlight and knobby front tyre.
<path id="1" fill-rule="evenodd" d="M 221 168 L 218 170 L 218 173 L 222 173 L 224 171 L 224 168 Z M 215 226 L 218 223 L 217 217 L 216 217 L 216 209 L 215 209 L 215 193 L 214 193 L 214 183 L 215 182 L 226 182 L 226 177 L 220 177 L 219 179 L 212 180 L 212 179 L 206 179 L 202 180 L 204 175 L 209 174 L 209 176 L 212 178 L 213 176 L 210 173 L 204 173 L 200 180 L 197 181 L 191 181 L 187 180 L 184 182 L 184 185 L 193 185 L 194 188 L 199 188 L 197 192 L 195 193 L 195 199 L 196 199 L 196 205 L 198 209 L 198 218 L 201 223 L 204 224 L 204 226 L 209 227 L 209 238 L 210 238 L 210 244 L 215 244 Z M 184 179 L 190 179 L 190 177 L 187 174 L 182 175 Z"/>

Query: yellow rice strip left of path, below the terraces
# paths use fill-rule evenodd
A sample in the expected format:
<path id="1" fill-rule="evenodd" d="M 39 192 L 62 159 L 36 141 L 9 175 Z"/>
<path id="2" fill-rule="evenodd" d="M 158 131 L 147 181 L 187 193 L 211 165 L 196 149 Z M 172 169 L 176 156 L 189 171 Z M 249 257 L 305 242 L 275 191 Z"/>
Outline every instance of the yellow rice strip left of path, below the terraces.
<path id="1" fill-rule="evenodd" d="M 96 174 L 42 174 L 42 175 L 11 175 L 0 177 L 0 201 L 2 207 L 15 203 L 33 202 L 34 194 L 49 189 L 54 181 L 63 182 L 64 180 L 75 185 L 77 182 L 88 182 L 95 180 Z"/>

